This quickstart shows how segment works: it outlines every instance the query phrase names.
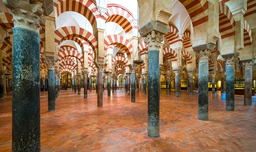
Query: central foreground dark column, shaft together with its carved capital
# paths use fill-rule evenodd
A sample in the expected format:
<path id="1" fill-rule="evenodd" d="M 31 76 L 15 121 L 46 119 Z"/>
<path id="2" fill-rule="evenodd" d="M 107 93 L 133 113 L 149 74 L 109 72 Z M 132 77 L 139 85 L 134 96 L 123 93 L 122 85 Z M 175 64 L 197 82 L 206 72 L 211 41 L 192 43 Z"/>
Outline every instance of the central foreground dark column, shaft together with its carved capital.
<path id="1" fill-rule="evenodd" d="M 147 25 L 143 28 L 147 30 Z M 155 138 L 160 136 L 159 48 L 163 38 L 164 34 L 158 31 L 151 31 L 144 38 L 148 45 L 148 136 Z"/>

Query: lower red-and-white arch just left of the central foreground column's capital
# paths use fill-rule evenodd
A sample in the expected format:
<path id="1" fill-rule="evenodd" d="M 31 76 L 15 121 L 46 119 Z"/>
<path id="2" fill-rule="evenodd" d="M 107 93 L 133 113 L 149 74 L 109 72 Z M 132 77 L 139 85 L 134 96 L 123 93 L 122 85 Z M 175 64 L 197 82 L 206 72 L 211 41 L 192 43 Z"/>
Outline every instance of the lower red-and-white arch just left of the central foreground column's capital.
<path id="1" fill-rule="evenodd" d="M 132 44 L 128 39 L 120 35 L 108 35 L 104 38 L 104 50 L 108 49 L 109 45 L 116 45 L 116 47 L 121 48 L 127 56 L 132 54 Z"/>

